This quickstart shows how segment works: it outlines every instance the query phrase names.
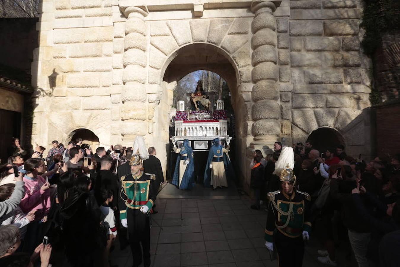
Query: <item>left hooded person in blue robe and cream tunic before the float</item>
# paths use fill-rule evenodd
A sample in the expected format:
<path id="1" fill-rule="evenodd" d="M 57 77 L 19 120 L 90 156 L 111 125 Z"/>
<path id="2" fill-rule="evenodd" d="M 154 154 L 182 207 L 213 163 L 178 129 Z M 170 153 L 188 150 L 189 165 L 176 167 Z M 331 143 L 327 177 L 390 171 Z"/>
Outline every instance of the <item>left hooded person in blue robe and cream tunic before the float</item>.
<path id="1" fill-rule="evenodd" d="M 185 139 L 180 149 L 174 147 L 175 153 L 178 153 L 176 159 L 174 176 L 172 177 L 172 184 L 179 189 L 191 189 L 194 185 L 194 162 L 193 162 L 193 149 L 189 145 L 189 140 Z"/>

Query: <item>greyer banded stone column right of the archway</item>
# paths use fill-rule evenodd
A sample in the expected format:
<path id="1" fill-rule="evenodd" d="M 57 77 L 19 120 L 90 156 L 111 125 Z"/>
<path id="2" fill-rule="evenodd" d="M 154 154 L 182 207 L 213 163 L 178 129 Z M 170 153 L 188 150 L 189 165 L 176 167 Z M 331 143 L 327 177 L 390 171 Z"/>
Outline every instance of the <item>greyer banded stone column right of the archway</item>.
<path id="1" fill-rule="evenodd" d="M 274 1 L 279 3 L 280 1 Z M 277 88 L 277 35 L 273 12 L 276 5 L 271 1 L 253 0 L 252 21 L 252 135 L 254 147 L 269 146 L 280 136 L 280 105 Z"/>

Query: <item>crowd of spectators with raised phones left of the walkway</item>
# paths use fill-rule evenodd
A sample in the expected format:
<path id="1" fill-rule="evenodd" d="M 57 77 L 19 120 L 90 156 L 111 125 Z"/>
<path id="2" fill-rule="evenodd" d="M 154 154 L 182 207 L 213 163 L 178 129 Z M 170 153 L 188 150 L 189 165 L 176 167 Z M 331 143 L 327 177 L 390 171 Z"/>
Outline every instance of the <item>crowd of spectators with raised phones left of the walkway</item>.
<path id="1" fill-rule="evenodd" d="M 44 151 L 12 139 L 0 165 L 0 266 L 109 267 L 117 233 L 121 249 L 128 244 L 117 205 L 132 148 L 93 152 L 79 138 Z"/>

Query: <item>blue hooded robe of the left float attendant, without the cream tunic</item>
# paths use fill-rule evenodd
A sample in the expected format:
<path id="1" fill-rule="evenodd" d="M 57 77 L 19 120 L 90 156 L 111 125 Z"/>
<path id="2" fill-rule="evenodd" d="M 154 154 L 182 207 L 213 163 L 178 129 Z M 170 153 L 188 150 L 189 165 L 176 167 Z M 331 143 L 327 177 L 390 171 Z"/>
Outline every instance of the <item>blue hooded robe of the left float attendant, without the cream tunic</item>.
<path id="1" fill-rule="evenodd" d="M 186 156 L 183 156 L 186 154 Z M 189 140 L 185 139 L 183 141 L 183 145 L 178 154 L 178 158 L 176 159 L 174 176 L 172 177 L 172 184 L 175 186 L 179 186 L 179 164 L 181 160 L 189 160 L 188 165 L 186 166 L 185 173 L 182 177 L 182 181 L 180 183 L 180 189 L 192 189 L 194 185 L 194 162 L 193 162 L 193 149 L 189 146 Z"/>

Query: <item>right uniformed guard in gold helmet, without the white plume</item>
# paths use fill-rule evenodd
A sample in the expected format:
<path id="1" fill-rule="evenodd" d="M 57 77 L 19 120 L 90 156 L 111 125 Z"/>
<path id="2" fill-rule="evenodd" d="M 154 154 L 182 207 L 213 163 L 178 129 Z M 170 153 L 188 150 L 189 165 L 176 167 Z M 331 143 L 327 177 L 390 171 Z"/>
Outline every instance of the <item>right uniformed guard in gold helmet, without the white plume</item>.
<path id="1" fill-rule="evenodd" d="M 280 267 L 301 267 L 304 241 L 310 239 L 307 209 L 310 195 L 293 190 L 296 176 L 289 165 L 282 169 L 279 178 L 282 189 L 268 193 L 265 246 L 274 251 L 275 245 Z"/>

